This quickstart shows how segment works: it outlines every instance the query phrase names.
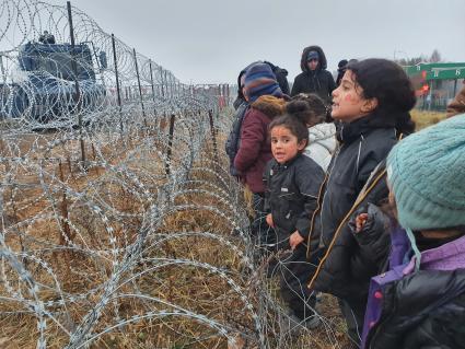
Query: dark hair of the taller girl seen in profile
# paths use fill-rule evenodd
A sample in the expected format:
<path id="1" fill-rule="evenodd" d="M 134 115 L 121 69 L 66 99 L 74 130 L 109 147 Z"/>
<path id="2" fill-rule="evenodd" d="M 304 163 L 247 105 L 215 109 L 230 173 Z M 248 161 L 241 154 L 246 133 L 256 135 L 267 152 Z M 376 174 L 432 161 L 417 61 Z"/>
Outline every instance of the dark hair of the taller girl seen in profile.
<path id="1" fill-rule="evenodd" d="M 398 132 L 414 132 L 415 123 L 409 112 L 417 98 L 400 66 L 387 59 L 371 58 L 349 62 L 347 70 L 354 74 L 354 82 L 363 89 L 364 98 L 377 100 L 377 107 L 372 113 L 373 124 L 385 126 L 391 120 Z"/>

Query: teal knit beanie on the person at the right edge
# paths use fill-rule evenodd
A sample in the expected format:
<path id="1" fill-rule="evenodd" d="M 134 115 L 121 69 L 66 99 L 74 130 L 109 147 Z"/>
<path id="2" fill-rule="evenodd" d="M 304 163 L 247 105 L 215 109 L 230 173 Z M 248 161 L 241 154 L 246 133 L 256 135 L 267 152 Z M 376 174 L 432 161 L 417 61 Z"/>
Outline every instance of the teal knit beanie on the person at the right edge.
<path id="1" fill-rule="evenodd" d="M 396 144 L 387 156 L 387 177 L 403 228 L 465 225 L 465 114 Z"/>

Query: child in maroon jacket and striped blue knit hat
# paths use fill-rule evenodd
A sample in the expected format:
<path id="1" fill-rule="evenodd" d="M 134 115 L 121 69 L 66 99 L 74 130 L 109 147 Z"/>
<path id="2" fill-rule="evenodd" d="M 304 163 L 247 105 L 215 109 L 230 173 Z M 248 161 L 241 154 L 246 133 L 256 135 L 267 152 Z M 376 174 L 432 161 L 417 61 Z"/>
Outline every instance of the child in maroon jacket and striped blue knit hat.
<path id="1" fill-rule="evenodd" d="M 275 117 L 283 114 L 284 94 L 269 65 L 263 62 L 247 67 L 243 93 L 249 108 L 242 121 L 234 167 L 241 174 L 241 181 L 254 194 L 255 219 L 251 226 L 252 234 L 261 243 L 268 243 L 267 236 L 272 234 L 268 232 L 269 228 L 265 221 L 263 174 L 265 165 L 272 158 L 268 125 Z"/>

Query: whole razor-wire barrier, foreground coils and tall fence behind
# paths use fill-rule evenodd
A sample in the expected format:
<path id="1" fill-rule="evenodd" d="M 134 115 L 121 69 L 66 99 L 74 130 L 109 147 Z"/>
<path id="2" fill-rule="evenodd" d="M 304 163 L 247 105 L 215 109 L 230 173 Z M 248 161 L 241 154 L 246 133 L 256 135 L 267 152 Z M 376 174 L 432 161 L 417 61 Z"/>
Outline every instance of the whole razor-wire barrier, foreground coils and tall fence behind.
<path id="1" fill-rule="evenodd" d="M 0 23 L 0 342 L 291 348 L 223 163 L 225 85 L 69 4 L 1 0 Z"/>

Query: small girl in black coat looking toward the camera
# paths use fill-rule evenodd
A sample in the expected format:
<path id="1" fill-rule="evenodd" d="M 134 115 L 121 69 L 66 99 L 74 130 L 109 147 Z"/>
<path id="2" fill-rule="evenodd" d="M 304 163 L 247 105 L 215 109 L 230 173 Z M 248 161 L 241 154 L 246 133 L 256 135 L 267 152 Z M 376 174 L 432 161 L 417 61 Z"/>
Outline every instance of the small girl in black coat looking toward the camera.
<path id="1" fill-rule="evenodd" d="M 294 324 L 312 328 L 318 317 L 315 296 L 305 281 L 315 265 L 306 261 L 310 219 L 316 208 L 324 172 L 312 159 L 302 154 L 309 142 L 305 121 L 294 115 L 276 118 L 269 125 L 274 159 L 267 164 L 266 220 L 275 229 L 278 251 L 291 251 L 280 257 L 281 295 L 290 309 Z"/>

